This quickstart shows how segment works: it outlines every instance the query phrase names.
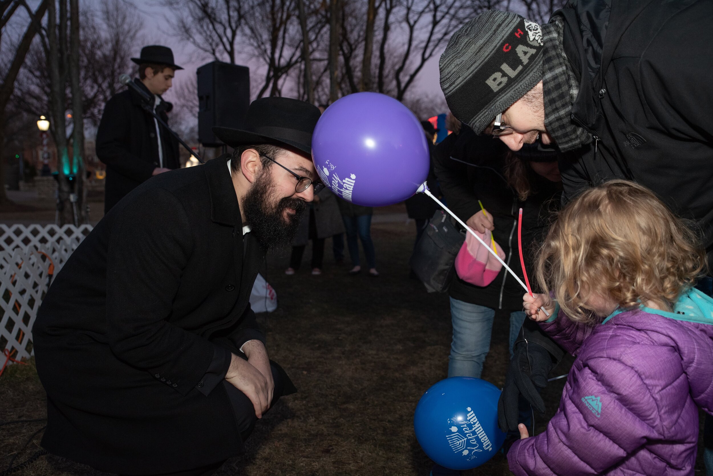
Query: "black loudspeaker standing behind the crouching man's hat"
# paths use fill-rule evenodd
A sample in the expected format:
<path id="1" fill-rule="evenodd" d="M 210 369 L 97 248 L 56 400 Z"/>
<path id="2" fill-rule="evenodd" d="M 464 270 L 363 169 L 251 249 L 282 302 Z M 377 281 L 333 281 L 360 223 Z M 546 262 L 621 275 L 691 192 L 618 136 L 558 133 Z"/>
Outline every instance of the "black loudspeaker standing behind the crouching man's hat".
<path id="1" fill-rule="evenodd" d="M 242 129 L 250 105 L 250 68 L 213 61 L 198 68 L 198 141 L 223 145 L 212 127 Z"/>

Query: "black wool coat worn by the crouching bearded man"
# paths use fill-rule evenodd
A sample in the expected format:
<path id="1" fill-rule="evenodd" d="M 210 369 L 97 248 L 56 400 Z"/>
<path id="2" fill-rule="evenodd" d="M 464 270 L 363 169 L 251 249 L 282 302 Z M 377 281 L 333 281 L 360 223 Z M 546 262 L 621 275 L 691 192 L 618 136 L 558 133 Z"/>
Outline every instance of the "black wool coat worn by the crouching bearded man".
<path id="1" fill-rule="evenodd" d="M 215 346 L 265 341 L 250 309 L 265 249 L 243 243 L 226 157 L 133 190 L 56 276 L 33 329 L 49 452 L 146 474 L 242 451 L 225 388 L 196 387 Z"/>

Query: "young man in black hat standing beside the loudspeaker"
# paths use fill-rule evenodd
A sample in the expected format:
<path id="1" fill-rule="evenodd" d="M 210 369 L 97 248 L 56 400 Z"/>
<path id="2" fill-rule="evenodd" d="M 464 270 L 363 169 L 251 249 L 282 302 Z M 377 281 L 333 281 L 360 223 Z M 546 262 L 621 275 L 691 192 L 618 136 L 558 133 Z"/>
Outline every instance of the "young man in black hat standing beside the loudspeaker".
<path id="1" fill-rule="evenodd" d="M 165 46 L 144 46 L 136 86 L 150 95 L 150 107 L 168 123 L 173 104 L 161 98 L 172 85 L 173 51 Z M 143 99 L 128 88 L 108 100 L 96 133 L 96 155 L 106 164 L 104 212 L 151 176 L 180 167 L 178 140 L 142 107 Z"/>

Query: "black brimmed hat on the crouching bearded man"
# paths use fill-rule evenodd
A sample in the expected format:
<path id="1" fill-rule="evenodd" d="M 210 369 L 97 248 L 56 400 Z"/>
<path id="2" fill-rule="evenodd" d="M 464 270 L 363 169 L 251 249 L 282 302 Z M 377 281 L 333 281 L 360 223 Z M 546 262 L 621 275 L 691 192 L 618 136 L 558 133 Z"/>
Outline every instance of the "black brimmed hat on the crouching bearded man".
<path id="1" fill-rule="evenodd" d="M 319 108 L 303 100 L 260 98 L 252 101 L 245 115 L 245 129 L 215 127 L 213 133 L 225 145 L 287 145 L 312 153 L 312 131 Z"/>

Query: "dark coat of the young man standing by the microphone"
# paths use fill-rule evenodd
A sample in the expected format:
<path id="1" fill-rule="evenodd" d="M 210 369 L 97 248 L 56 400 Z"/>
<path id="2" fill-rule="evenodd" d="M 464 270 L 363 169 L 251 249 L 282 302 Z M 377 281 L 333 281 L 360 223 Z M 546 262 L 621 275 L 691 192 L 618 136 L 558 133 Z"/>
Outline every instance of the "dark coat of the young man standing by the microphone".
<path id="1" fill-rule="evenodd" d="M 148 89 L 141 81 L 135 83 Z M 152 99 L 155 97 L 149 93 Z M 96 156 L 106 164 L 104 185 L 104 212 L 117 204 L 131 190 L 151 178 L 153 170 L 160 167 L 155 119 L 141 107 L 140 95 L 131 89 L 113 95 L 104 107 L 96 132 Z M 166 114 L 173 108 L 163 101 L 157 113 L 168 124 Z M 163 145 L 163 167 L 180 167 L 178 140 L 159 125 Z"/>

